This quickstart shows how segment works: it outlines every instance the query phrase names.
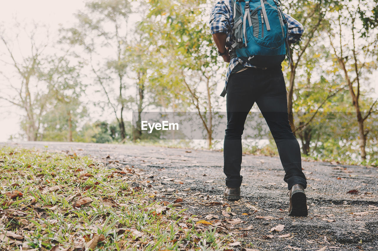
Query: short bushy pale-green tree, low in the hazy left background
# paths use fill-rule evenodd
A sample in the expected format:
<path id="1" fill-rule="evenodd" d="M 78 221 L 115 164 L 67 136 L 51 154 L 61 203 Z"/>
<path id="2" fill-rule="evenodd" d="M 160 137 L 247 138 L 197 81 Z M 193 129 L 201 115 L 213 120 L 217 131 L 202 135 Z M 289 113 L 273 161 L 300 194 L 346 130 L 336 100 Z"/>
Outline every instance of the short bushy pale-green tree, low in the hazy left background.
<path id="1" fill-rule="evenodd" d="M 85 89 L 80 77 L 82 63 L 72 61 L 76 60 L 68 60 L 68 55 L 53 55 L 41 66 L 40 78 L 47 83 L 50 93 L 41 118 L 41 140 L 72 142 L 79 119 L 87 116 L 80 100 Z"/>

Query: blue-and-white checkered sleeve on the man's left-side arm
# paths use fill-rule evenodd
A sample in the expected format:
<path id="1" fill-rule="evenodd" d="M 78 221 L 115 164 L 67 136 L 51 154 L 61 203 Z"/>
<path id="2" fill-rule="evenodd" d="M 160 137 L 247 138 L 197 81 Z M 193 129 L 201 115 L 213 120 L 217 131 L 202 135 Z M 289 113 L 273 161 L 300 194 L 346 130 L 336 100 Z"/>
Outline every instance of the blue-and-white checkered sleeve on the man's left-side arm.
<path id="1" fill-rule="evenodd" d="M 230 10 L 225 0 L 218 1 L 211 9 L 210 33 L 227 33 L 230 26 Z"/>

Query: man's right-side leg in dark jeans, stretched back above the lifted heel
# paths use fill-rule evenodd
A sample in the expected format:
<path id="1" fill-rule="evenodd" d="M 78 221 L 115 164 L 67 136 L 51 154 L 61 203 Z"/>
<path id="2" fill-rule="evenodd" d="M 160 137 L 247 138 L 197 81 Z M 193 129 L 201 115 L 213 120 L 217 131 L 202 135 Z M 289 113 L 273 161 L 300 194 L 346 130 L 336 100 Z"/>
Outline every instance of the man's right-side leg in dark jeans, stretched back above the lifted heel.
<path id="1" fill-rule="evenodd" d="M 283 180 L 287 182 L 288 190 L 294 184 L 301 184 L 306 188 L 307 181 L 301 165 L 301 150 L 288 121 L 287 95 L 282 71 L 272 70 L 267 72 L 266 77 L 270 77 L 269 81 L 266 82 L 263 95 L 257 98 L 256 103 L 276 142 L 285 170 Z"/>

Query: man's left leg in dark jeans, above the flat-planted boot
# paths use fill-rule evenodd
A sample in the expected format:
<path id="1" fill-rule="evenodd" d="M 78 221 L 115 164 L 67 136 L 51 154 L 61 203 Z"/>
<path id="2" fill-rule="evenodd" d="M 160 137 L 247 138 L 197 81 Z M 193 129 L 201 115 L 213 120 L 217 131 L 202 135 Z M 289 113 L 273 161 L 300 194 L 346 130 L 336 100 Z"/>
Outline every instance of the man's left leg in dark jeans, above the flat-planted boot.
<path id="1" fill-rule="evenodd" d="M 251 110 L 253 99 L 253 78 L 255 69 L 247 69 L 232 74 L 227 85 L 226 109 L 227 129 L 223 147 L 224 167 L 227 187 L 240 187 L 242 164 L 242 134 L 245 119 Z"/>

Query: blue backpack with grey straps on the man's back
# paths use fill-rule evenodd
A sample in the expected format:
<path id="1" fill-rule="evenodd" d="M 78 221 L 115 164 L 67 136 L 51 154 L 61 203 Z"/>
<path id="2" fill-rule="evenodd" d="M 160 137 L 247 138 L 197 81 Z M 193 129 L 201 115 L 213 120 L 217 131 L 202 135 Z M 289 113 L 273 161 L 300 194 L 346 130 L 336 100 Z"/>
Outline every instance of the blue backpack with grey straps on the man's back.
<path id="1" fill-rule="evenodd" d="M 232 0 L 234 44 L 231 51 L 258 67 L 285 60 L 288 25 L 278 0 Z"/>

